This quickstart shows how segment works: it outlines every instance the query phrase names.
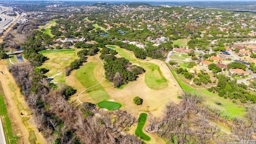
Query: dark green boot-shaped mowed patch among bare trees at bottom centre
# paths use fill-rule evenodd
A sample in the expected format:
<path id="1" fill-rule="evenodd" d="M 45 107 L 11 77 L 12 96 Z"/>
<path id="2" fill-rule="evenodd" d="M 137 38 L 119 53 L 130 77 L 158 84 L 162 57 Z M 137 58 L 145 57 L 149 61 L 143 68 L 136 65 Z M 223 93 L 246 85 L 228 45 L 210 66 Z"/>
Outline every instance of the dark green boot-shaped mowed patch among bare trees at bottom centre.
<path id="1" fill-rule="evenodd" d="M 139 117 L 139 120 L 138 120 L 138 126 L 135 130 L 135 134 L 138 137 L 142 138 L 143 140 L 150 141 L 151 138 L 142 131 L 142 129 L 143 129 L 145 123 L 146 123 L 147 117 L 148 117 L 148 114 L 146 114 L 146 113 L 141 113 L 140 114 L 140 117 Z"/>

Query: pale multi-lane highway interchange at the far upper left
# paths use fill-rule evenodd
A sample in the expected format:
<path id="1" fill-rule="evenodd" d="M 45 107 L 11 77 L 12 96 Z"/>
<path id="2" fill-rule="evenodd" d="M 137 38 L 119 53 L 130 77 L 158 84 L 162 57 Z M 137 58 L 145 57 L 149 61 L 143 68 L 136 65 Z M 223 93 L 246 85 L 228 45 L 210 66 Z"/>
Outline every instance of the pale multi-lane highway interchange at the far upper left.
<path id="1" fill-rule="evenodd" d="M 7 16 L 4 13 L 12 10 L 12 8 L 4 7 L 4 6 L 0 6 L 0 8 L 1 8 L 0 9 L 0 18 L 2 18 L 2 20 L 0 21 L 0 32 L 3 32 L 3 30 L 8 28 L 8 26 L 10 26 L 14 22 L 14 20 L 16 20 L 18 18 L 18 14 L 17 14 L 16 18 Z"/>

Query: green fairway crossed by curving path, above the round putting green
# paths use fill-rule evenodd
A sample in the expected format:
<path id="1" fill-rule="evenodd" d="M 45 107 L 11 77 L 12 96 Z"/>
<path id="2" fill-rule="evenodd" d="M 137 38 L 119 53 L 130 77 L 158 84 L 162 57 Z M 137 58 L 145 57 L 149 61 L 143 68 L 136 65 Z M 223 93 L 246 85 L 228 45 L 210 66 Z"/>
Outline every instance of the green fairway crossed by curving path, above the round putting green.
<path id="1" fill-rule="evenodd" d="M 93 70 L 97 64 L 97 62 L 88 62 L 76 71 L 75 77 L 84 86 L 84 88 L 90 88 L 91 86 L 94 86 L 99 83 L 98 80 L 96 80 L 93 73 Z M 110 98 L 108 93 L 100 84 L 86 90 L 86 92 L 96 103 L 109 100 Z"/>

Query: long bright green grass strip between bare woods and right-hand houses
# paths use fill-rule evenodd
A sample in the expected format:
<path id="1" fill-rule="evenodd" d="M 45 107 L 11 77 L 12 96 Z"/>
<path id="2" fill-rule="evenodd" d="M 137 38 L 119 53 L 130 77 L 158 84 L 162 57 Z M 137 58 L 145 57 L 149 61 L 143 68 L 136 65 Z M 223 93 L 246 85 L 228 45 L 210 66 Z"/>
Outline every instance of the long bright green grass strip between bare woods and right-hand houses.
<path id="1" fill-rule="evenodd" d="M 206 90 L 204 88 L 196 90 L 196 89 L 188 86 L 187 84 L 184 84 L 182 82 L 182 80 L 177 78 L 176 72 L 174 70 L 171 70 L 171 71 L 185 93 L 190 92 L 193 94 L 201 95 L 205 100 L 204 104 L 210 106 L 210 108 L 217 108 L 219 110 L 227 112 L 231 118 L 244 116 L 245 111 L 242 106 L 234 104 L 230 100 L 224 99 L 223 97 L 218 96 L 218 94 L 209 92 L 208 90 Z M 220 102 L 221 104 L 218 105 L 218 104 L 216 104 L 216 102 Z"/>

